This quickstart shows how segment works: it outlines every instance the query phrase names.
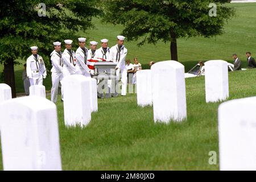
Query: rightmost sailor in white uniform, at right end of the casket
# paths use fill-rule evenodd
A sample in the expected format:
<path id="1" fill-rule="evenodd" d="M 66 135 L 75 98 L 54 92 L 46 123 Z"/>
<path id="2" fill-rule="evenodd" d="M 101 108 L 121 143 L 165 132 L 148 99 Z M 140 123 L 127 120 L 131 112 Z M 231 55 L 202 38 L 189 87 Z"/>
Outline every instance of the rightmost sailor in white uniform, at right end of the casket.
<path id="1" fill-rule="evenodd" d="M 127 55 L 127 49 L 125 46 L 123 46 L 123 42 L 125 40 L 125 37 L 122 35 L 117 36 L 117 44 L 110 48 L 110 54 L 109 54 L 109 59 L 110 61 L 113 61 L 114 63 L 117 63 L 116 69 L 116 75 L 118 79 L 115 80 L 115 84 L 112 81 L 111 84 L 111 93 L 113 94 L 114 97 L 118 96 L 117 93 L 117 84 L 121 75 L 121 81 L 122 81 L 122 96 L 126 96 L 126 87 L 127 87 L 127 71 L 125 68 L 125 58 Z"/>

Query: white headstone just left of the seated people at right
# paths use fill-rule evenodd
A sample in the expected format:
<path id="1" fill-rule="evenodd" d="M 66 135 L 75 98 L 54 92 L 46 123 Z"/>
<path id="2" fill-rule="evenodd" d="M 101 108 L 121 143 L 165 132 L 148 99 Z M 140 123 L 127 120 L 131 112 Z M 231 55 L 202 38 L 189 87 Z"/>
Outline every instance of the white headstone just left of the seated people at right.
<path id="1" fill-rule="evenodd" d="M 228 63 L 210 60 L 205 63 L 206 102 L 224 101 L 229 97 Z"/>

